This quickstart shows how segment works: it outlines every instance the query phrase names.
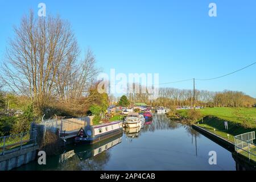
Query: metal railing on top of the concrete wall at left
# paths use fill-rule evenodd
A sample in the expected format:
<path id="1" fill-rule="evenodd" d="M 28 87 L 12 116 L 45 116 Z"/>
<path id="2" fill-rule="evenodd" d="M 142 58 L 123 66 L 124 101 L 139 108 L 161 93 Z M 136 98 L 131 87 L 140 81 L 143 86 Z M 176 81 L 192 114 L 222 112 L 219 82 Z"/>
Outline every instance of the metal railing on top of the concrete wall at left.
<path id="1" fill-rule="evenodd" d="M 33 130 L 26 133 L 0 137 L 0 155 L 10 154 L 14 151 L 36 146 L 36 136 L 37 131 Z"/>

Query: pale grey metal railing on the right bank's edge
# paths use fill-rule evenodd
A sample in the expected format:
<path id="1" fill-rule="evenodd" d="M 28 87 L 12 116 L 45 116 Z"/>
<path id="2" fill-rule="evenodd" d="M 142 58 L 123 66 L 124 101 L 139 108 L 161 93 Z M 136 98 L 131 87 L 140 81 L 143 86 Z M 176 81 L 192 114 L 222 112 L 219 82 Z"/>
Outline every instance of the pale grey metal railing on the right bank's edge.
<path id="1" fill-rule="evenodd" d="M 234 145 L 236 152 L 245 151 L 249 159 L 251 159 L 251 155 L 256 156 L 256 144 L 253 143 L 254 139 L 254 131 L 235 136 Z"/>

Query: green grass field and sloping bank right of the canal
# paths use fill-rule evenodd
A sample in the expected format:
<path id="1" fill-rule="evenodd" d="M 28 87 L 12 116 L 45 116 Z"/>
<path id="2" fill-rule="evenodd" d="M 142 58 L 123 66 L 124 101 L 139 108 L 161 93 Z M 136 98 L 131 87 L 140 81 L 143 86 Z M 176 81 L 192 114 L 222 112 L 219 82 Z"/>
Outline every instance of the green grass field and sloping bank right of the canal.
<path id="1" fill-rule="evenodd" d="M 181 116 L 187 117 L 188 110 L 178 110 Z M 202 127 L 222 138 L 234 142 L 234 136 L 247 133 L 250 131 L 256 132 L 256 108 L 228 108 L 214 107 L 200 109 L 203 119 L 195 122 L 195 125 Z M 224 122 L 228 121 L 228 130 L 225 129 Z M 254 140 L 256 143 L 256 140 Z M 256 149 L 251 148 L 251 152 L 256 154 Z M 240 154 L 248 157 L 245 151 Z M 251 155 L 251 159 L 256 161 L 256 157 Z"/>

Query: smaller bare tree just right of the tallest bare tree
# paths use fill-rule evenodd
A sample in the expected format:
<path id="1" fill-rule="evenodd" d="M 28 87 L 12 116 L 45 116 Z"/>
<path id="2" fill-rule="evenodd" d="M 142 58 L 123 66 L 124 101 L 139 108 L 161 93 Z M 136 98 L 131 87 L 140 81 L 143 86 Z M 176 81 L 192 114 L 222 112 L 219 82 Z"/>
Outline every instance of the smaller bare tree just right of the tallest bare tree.
<path id="1" fill-rule="evenodd" d="M 63 101 L 78 100 L 81 96 L 86 96 L 99 72 L 95 56 L 88 49 L 84 60 L 77 61 L 71 57 L 67 63 L 61 64 L 56 74 L 55 91 Z"/>

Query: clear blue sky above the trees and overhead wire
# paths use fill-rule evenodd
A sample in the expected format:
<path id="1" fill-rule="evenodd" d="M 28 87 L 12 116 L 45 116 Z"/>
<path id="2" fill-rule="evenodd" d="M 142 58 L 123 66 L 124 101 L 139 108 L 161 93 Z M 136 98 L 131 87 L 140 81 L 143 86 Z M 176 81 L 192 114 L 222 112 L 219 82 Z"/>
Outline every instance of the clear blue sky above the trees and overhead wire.
<path id="1" fill-rule="evenodd" d="M 160 83 L 225 75 L 256 61 L 256 1 L 3 1 L 0 60 L 13 26 L 46 3 L 47 14 L 72 24 L 81 49 L 92 48 L 106 73 L 159 73 Z M 209 17 L 208 5 L 217 5 Z M 256 65 L 196 88 L 240 90 L 256 97 Z M 192 82 L 169 84 L 192 89 Z"/>

